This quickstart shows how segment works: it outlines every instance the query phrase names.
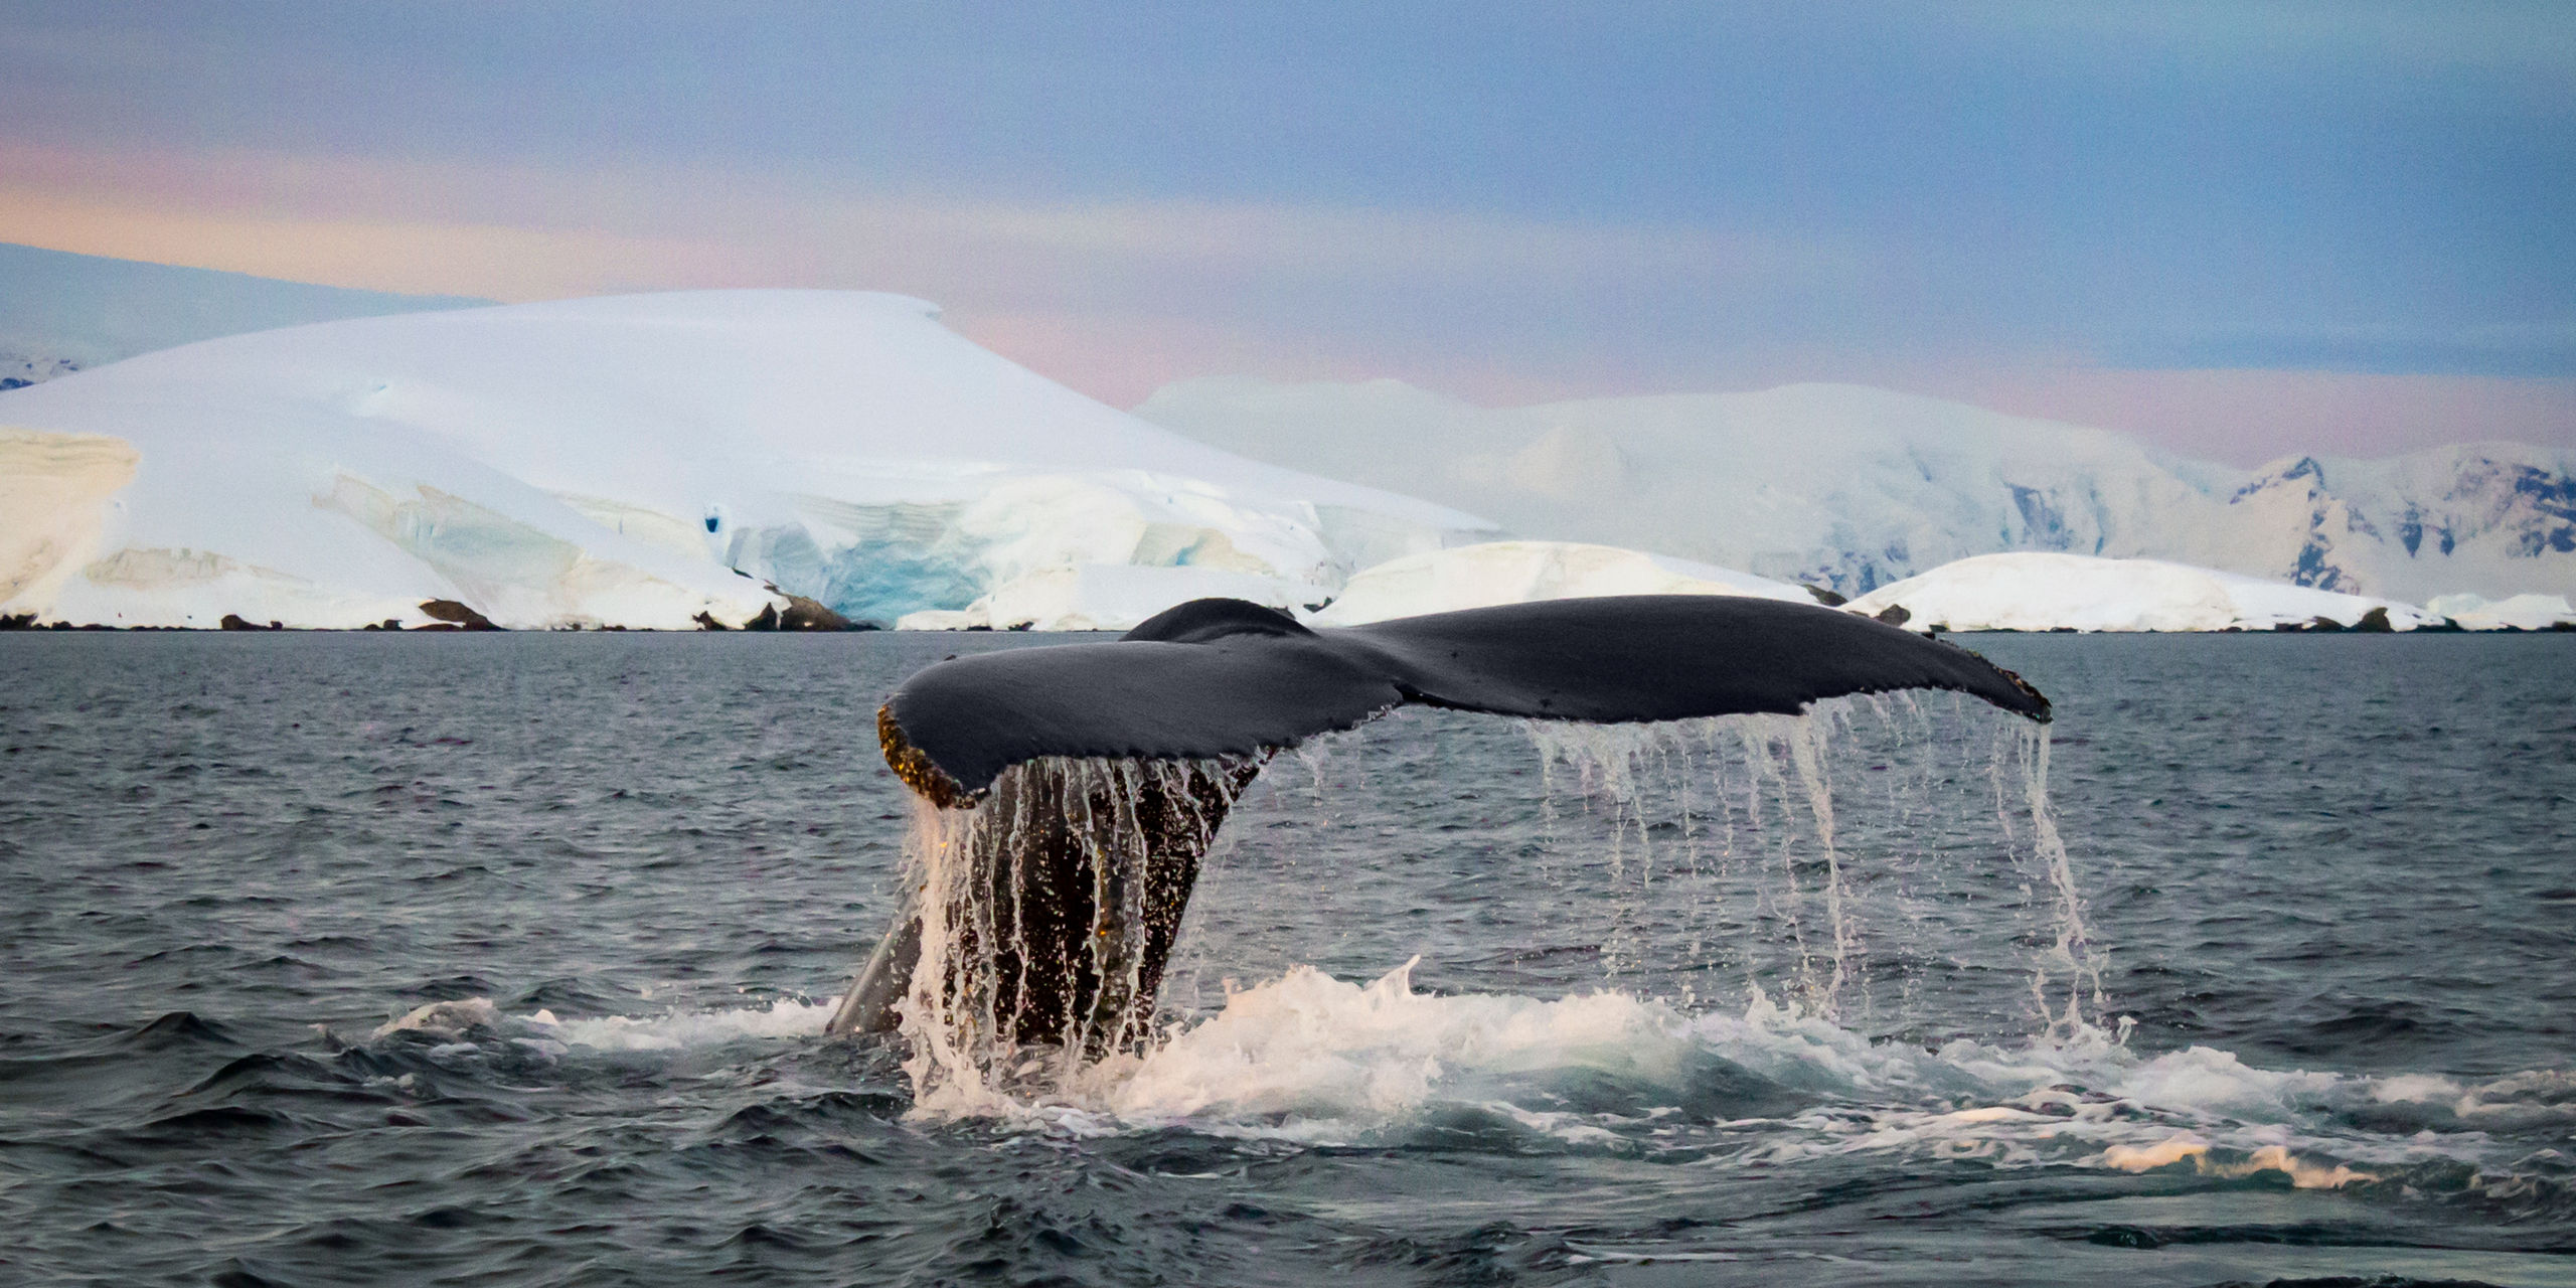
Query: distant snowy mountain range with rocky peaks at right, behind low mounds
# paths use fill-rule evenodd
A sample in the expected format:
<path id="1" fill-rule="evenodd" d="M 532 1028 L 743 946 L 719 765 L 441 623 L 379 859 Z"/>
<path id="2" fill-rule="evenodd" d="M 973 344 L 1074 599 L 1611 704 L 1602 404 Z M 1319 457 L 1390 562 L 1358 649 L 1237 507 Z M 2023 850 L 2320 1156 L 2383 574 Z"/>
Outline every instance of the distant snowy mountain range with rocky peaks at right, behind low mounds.
<path id="1" fill-rule="evenodd" d="M 2522 443 L 2241 471 L 2133 438 L 1798 384 L 1484 410 L 1399 381 L 1206 379 L 1136 407 L 1262 461 L 1860 595 L 1991 551 L 2202 564 L 2421 603 L 2576 590 L 2576 453 Z"/>

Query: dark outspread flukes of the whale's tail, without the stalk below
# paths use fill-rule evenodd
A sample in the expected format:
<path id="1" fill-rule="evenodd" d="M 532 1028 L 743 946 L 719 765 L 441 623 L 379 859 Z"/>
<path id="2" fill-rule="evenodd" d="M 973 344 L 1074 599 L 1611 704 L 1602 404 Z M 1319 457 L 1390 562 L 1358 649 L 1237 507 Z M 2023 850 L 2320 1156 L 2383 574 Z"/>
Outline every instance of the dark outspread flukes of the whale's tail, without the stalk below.
<path id="1" fill-rule="evenodd" d="M 1984 657 L 1834 608 L 1734 595 L 1512 603 L 1314 631 L 1190 600 L 1108 644 L 953 657 L 878 711 L 886 762 L 938 806 L 1038 757 L 1247 757 L 1401 703 L 1595 724 L 1798 714 L 1821 698 L 1947 688 L 2048 721 Z"/>

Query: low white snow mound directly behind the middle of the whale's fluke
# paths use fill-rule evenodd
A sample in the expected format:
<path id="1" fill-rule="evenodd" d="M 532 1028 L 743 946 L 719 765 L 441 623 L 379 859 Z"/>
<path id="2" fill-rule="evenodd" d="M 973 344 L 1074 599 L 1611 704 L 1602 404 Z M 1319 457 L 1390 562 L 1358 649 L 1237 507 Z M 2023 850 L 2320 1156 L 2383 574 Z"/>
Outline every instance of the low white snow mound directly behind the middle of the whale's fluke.
<path id="1" fill-rule="evenodd" d="M 1600 595 L 1752 595 L 1816 603 L 1806 587 L 1690 559 L 1569 541 L 1486 541 L 1360 569 L 1342 587 L 1342 598 L 1314 621 L 1363 626 L 1414 613 Z"/>

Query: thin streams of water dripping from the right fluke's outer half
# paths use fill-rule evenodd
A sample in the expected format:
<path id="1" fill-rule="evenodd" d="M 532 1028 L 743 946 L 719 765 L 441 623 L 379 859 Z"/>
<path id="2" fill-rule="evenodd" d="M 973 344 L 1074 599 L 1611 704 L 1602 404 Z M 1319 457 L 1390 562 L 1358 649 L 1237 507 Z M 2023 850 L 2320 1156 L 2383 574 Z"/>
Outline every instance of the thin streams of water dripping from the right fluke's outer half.
<path id="1" fill-rule="evenodd" d="M 1551 845 L 1582 848 L 1579 878 L 1613 907 L 1610 984 L 1685 1007 L 1734 992 L 1935 1043 L 2007 1028 L 2074 1041 L 2102 1015 L 2045 726 L 1886 693 L 1803 716 L 1525 732 Z M 1999 943 L 2022 951 L 2004 961 Z M 1976 1005 L 1963 963 L 1986 976 Z M 2004 974 L 2017 987 L 1996 989 Z"/>

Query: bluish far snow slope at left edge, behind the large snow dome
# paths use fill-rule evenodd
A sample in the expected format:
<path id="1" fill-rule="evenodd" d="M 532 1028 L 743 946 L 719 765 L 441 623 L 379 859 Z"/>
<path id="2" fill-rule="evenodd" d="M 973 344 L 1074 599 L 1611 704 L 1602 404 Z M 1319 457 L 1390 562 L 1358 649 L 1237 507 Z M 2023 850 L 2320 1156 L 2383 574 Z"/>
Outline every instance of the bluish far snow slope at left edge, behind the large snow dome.
<path id="1" fill-rule="evenodd" d="M 345 291 L 0 242 L 0 389 L 216 335 L 477 304 L 489 299 Z"/>

